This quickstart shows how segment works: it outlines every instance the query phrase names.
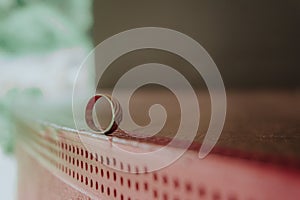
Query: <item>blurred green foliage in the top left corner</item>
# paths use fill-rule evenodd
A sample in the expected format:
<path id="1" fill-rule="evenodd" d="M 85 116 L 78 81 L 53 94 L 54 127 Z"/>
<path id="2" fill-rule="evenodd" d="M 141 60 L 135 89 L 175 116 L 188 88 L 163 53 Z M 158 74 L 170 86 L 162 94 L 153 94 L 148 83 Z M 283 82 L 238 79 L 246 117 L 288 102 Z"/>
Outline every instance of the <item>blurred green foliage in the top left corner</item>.
<path id="1" fill-rule="evenodd" d="M 0 52 L 91 46 L 92 0 L 0 0 Z"/>

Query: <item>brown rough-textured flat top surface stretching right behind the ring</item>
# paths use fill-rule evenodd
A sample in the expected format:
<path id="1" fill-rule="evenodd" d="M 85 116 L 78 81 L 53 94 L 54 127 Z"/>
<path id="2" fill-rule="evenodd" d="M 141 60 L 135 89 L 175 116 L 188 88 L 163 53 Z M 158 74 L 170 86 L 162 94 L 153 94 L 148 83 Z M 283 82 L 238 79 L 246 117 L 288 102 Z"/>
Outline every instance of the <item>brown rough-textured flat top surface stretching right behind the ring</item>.
<path id="1" fill-rule="evenodd" d="M 210 100 L 204 92 L 199 92 L 198 98 L 201 120 L 195 143 L 200 145 L 209 124 Z M 168 118 L 165 127 L 152 139 L 172 138 L 180 121 L 179 104 L 172 93 L 137 92 L 131 99 L 131 115 L 136 123 L 146 125 L 149 106 L 155 103 L 166 108 Z M 228 91 L 227 116 L 217 147 L 299 161 L 299 113 L 299 91 Z M 134 131 L 143 134 L 147 130 Z"/>

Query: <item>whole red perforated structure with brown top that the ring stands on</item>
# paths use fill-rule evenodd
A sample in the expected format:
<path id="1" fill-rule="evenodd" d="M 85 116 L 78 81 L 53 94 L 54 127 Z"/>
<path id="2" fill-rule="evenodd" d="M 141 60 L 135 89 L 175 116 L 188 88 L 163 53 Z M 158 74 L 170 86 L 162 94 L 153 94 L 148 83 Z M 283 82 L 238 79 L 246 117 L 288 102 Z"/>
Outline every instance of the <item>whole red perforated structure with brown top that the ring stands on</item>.
<path id="1" fill-rule="evenodd" d="M 141 125 L 149 120 L 145 105 L 154 102 L 166 105 L 169 113 L 166 127 L 155 137 L 134 139 L 121 131 L 109 137 L 82 135 L 53 124 L 21 120 L 17 143 L 19 199 L 300 197 L 299 93 L 228 93 L 224 131 L 204 160 L 198 159 L 197 151 L 208 124 L 209 98 L 199 93 L 202 119 L 198 136 L 180 159 L 155 172 L 148 172 L 144 161 L 116 154 L 112 141 L 138 152 L 164 145 L 176 131 L 178 110 L 170 93 L 136 95 L 132 98 L 132 116 Z M 48 120 L 52 121 L 51 117 Z M 140 134 L 143 131 L 137 130 Z M 83 138 L 97 151 L 87 149 Z"/>

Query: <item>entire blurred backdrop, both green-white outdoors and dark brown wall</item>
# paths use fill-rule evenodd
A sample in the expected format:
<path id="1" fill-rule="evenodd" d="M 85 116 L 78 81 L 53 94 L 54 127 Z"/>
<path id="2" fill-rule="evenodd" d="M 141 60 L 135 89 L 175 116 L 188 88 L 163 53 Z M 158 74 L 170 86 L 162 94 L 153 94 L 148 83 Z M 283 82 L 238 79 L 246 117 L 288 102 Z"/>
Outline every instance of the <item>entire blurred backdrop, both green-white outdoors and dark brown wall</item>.
<path id="1" fill-rule="evenodd" d="M 228 90 L 296 91 L 299 25 L 297 0 L 0 0 L 0 199 L 13 199 L 16 185 L 14 97 L 71 93 L 80 63 L 110 36 L 137 27 L 174 29 L 208 51 Z M 124 72 L 148 62 L 172 66 L 195 88 L 205 87 L 185 60 L 141 50 L 112 63 L 99 88 L 111 88 Z"/>

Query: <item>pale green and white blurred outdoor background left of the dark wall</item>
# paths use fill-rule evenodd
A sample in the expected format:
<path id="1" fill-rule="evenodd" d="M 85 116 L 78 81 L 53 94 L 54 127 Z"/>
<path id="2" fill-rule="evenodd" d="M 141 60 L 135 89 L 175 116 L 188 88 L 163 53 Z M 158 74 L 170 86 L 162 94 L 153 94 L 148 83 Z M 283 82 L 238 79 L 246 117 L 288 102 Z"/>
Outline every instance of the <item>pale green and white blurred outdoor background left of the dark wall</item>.
<path id="1" fill-rule="evenodd" d="M 15 101 L 71 94 L 92 48 L 92 3 L 0 0 L 0 199 L 16 198 Z"/>

